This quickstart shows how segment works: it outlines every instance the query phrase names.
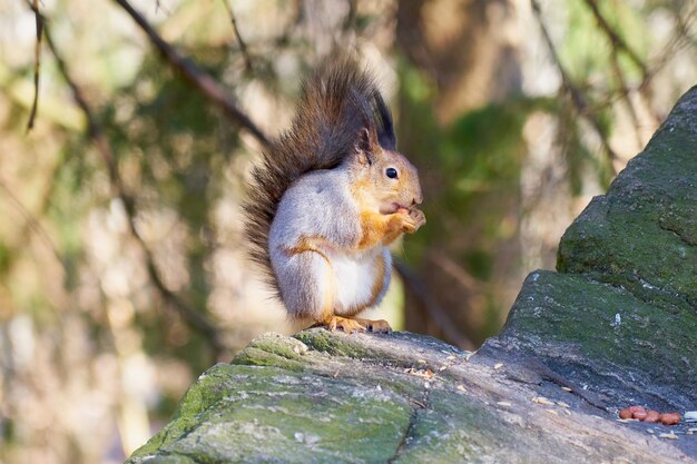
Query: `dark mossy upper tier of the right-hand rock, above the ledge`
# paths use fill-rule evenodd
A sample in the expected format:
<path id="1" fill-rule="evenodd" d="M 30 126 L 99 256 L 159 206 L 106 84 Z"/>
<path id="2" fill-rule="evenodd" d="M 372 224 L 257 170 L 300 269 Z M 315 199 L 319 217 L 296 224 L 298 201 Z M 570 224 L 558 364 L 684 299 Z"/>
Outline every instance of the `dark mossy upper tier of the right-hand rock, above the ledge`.
<path id="1" fill-rule="evenodd" d="M 559 245 L 559 272 L 621 285 L 659 307 L 697 306 L 696 112 L 688 93 L 573 221 Z"/>

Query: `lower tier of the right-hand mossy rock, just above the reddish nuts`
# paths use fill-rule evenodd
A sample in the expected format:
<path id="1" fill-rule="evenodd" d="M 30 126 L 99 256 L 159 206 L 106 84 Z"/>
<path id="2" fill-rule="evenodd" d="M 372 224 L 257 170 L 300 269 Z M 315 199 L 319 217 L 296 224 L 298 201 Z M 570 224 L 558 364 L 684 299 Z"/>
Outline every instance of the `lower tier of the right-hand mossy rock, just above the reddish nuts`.
<path id="1" fill-rule="evenodd" d="M 659 308 L 586 275 L 532 273 L 482 349 L 534 356 L 606 407 L 697 408 L 697 315 Z"/>

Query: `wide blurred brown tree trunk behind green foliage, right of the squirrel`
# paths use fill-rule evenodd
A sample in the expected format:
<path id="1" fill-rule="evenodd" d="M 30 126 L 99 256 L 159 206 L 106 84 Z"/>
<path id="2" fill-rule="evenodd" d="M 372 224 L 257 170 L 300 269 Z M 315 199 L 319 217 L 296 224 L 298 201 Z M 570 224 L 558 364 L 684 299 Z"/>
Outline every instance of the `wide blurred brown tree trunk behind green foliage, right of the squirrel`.
<path id="1" fill-rule="evenodd" d="M 425 73 L 435 86 L 433 110 L 439 125 L 446 126 L 467 111 L 489 102 L 501 102 L 521 91 L 519 32 L 513 2 L 420 0 L 397 4 L 397 43 L 410 65 Z M 400 125 L 409 125 L 410 120 L 422 117 L 413 111 L 410 113 L 410 110 L 409 106 L 400 108 Z M 402 128 L 397 134 L 403 149 L 420 146 L 420 132 L 414 131 L 413 126 L 412 130 Z M 464 157 L 467 147 L 461 149 Z M 440 181 L 439 174 L 433 171 L 440 167 L 425 161 L 429 155 L 409 154 L 416 160 L 424 160 L 420 168 L 426 203 L 429 191 L 435 191 Z M 477 214 L 465 218 L 467 228 L 451 238 L 433 236 L 418 265 L 418 274 L 428 284 L 433 298 L 458 329 L 475 344 L 498 328 L 514 298 L 512 289 L 518 288 L 519 208 L 518 188 L 484 196 L 482 217 Z M 500 216 L 500 224 L 510 225 L 504 227 L 509 230 L 505 237 L 494 238 L 495 244 L 488 238 L 490 233 L 483 226 L 483 216 L 491 221 L 491 214 Z M 484 254 L 491 261 L 488 276 L 472 277 L 472 269 L 457 258 L 462 256 L 463 249 L 473 255 L 491 251 Z M 483 280 L 488 284 L 483 285 Z M 406 298 L 406 329 L 448 338 L 415 298 Z"/>

